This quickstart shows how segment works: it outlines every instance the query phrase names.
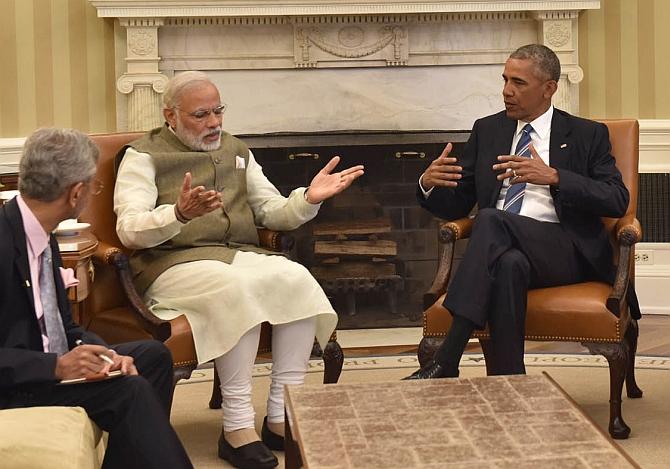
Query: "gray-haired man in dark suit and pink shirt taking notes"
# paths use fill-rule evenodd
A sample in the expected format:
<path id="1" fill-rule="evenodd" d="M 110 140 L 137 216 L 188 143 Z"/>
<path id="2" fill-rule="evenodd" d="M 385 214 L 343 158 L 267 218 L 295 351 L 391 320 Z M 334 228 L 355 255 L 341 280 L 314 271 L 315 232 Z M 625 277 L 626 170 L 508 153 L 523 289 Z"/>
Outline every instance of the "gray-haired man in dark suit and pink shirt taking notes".
<path id="1" fill-rule="evenodd" d="M 97 160 L 76 130 L 40 129 L 25 142 L 20 195 L 0 207 L 0 409 L 80 406 L 109 432 L 103 467 L 190 468 L 168 417 L 167 348 L 110 347 L 72 320 L 52 231 L 101 189 Z M 76 378 L 90 381 L 59 384 Z"/>

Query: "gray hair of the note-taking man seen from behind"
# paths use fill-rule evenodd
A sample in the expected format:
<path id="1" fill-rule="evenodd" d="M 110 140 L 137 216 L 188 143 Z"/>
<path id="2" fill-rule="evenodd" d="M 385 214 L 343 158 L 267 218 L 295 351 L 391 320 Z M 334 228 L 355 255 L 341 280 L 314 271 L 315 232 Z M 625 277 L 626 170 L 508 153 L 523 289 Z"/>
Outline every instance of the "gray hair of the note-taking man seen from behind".
<path id="1" fill-rule="evenodd" d="M 88 135 L 74 129 L 38 129 L 23 145 L 19 191 L 52 202 L 78 182 L 95 176 L 100 151 Z"/>

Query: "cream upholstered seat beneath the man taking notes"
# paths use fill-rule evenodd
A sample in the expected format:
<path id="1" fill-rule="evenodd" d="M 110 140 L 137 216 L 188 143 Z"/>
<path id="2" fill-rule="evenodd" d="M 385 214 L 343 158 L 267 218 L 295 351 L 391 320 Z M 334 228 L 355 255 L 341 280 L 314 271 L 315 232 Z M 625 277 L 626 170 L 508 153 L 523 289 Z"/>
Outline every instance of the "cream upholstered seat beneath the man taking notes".
<path id="1" fill-rule="evenodd" d="M 0 410 L 0 460 L 7 469 L 99 468 L 102 431 L 81 407 Z"/>

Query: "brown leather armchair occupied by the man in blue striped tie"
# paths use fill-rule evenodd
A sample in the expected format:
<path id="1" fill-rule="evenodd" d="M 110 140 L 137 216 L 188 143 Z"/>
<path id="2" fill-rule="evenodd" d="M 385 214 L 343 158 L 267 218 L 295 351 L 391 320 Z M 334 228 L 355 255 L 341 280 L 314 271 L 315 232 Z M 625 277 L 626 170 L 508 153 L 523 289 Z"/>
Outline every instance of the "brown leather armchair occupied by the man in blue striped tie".
<path id="1" fill-rule="evenodd" d="M 628 397 L 642 396 L 635 382 L 635 352 L 637 350 L 637 321 L 630 317 L 626 303 L 629 279 L 635 278 L 634 247 L 642 237 L 635 218 L 638 183 L 639 126 L 636 120 L 603 121 L 610 133 L 612 154 L 630 191 L 626 214 L 620 219 L 604 218 L 611 233 L 617 265 L 614 285 L 584 282 L 528 292 L 526 340 L 581 342 L 592 354 L 607 358 L 610 369 L 610 421 L 613 438 L 628 438 L 630 428 L 621 416 L 621 391 L 624 379 Z M 419 345 L 419 362 L 425 365 L 442 343 L 449 327 L 451 314 L 442 306 L 447 294 L 452 269 L 454 243 L 467 238 L 473 219 L 462 218 L 441 222 L 439 240 L 441 257 L 433 285 L 424 296 L 423 339 Z M 473 287 L 476 294 L 476 288 Z M 475 331 L 484 356 L 487 354 L 488 330 Z"/>

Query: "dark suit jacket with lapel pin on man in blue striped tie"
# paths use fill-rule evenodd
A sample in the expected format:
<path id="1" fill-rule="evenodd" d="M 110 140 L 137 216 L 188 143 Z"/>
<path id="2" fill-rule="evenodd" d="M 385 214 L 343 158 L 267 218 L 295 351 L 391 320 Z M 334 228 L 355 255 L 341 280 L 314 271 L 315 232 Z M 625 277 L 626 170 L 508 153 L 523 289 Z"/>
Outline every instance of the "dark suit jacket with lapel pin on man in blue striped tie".
<path id="1" fill-rule="evenodd" d="M 467 216 L 475 204 L 495 208 L 502 181 L 491 167 L 498 155 L 510 153 L 516 127 L 517 121 L 504 111 L 477 120 L 458 159 L 463 167 L 458 186 L 436 187 L 428 199 L 419 190 L 421 206 L 447 220 Z M 609 282 L 614 275 L 612 248 L 600 217 L 623 216 L 629 201 L 610 151 L 607 126 L 554 109 L 549 164 L 559 173 L 558 187 L 551 188 L 556 213 L 594 274 Z"/>

